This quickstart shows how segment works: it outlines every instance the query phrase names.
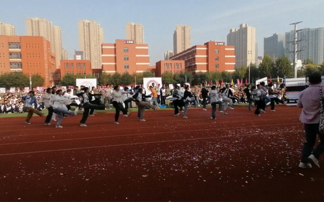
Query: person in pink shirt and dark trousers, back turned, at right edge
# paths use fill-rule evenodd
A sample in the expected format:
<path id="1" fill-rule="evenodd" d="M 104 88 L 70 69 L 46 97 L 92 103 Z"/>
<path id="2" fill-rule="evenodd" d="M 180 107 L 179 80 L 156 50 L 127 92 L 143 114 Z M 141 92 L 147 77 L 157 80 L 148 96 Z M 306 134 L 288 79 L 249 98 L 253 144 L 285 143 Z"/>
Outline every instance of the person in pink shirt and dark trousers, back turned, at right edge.
<path id="1" fill-rule="evenodd" d="M 299 94 L 297 107 L 302 108 L 299 120 L 304 123 L 306 142 L 303 146 L 301 162 L 298 167 L 311 168 L 309 162 L 313 162 L 319 167 L 318 158 L 324 152 L 324 133 L 319 131 L 319 121 L 321 113 L 323 113 L 323 92 L 324 86 L 321 84 L 322 79 L 319 73 L 313 73 L 309 76 L 307 89 Z M 321 106 L 322 102 L 322 106 Z M 316 136 L 319 136 L 320 143 L 315 150 L 313 147 L 316 143 Z"/>

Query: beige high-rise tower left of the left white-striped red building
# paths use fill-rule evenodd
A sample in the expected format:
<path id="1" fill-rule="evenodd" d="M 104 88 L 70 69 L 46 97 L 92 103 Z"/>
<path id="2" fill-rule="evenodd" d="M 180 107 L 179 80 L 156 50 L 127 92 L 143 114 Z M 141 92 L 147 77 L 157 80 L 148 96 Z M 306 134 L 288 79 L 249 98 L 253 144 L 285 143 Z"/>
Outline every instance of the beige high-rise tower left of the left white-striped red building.
<path id="1" fill-rule="evenodd" d="M 96 21 L 82 20 L 79 27 L 79 47 L 84 59 L 90 60 L 91 69 L 101 69 L 101 45 L 104 41 L 103 28 Z"/>

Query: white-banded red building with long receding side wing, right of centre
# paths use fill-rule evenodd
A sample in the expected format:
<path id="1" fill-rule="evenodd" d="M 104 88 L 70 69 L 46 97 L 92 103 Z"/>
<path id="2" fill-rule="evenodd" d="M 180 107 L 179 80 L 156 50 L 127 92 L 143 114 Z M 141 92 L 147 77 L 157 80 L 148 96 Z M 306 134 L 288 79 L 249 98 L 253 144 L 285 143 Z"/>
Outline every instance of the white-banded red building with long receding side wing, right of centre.
<path id="1" fill-rule="evenodd" d="M 234 46 L 225 46 L 225 42 L 209 41 L 188 48 L 169 59 L 184 60 L 185 70 L 191 72 L 235 71 Z"/>

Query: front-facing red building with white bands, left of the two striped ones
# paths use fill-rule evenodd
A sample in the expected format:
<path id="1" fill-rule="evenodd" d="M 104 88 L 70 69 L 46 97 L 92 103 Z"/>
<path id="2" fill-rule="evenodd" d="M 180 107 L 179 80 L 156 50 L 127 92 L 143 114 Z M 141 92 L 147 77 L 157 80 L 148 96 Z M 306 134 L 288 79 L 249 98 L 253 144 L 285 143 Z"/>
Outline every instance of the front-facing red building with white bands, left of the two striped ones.
<path id="1" fill-rule="evenodd" d="M 150 70 L 147 44 L 133 40 L 116 40 L 115 44 L 102 44 L 102 72 L 133 74 Z"/>

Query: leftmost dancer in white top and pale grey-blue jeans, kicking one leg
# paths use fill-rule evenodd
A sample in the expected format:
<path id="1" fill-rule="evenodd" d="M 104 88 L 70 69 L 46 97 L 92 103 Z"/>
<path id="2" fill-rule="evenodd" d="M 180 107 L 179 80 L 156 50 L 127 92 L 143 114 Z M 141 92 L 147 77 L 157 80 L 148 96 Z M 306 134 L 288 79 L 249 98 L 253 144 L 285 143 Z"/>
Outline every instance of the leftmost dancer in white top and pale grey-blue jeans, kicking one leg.
<path id="1" fill-rule="evenodd" d="M 53 112 L 55 112 L 58 116 L 58 120 L 56 122 L 56 128 L 63 128 L 63 126 L 61 126 L 61 122 L 63 120 L 63 113 L 74 115 L 74 116 L 76 116 L 77 114 L 76 112 L 71 112 L 67 110 L 65 103 L 70 101 L 64 98 L 62 95 L 63 95 L 63 91 L 57 90 L 56 95 L 52 97 L 52 99 L 50 100 L 50 104 L 52 104 L 53 107 Z"/>

